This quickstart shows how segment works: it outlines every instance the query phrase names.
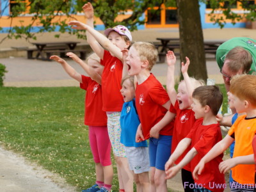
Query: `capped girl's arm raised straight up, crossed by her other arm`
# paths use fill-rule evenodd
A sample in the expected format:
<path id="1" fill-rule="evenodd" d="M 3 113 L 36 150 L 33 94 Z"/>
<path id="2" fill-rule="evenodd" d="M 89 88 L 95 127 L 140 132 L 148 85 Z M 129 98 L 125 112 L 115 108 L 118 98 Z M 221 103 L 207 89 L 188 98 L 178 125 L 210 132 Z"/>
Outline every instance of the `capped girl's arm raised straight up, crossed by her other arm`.
<path id="1" fill-rule="evenodd" d="M 93 10 L 93 6 L 90 2 L 84 4 L 84 6 L 82 7 L 84 10 L 84 16 L 86 18 L 86 24 L 88 24 L 88 26 L 90 26 L 91 28 L 94 28 L 94 10 Z M 92 50 L 101 58 L 103 59 L 103 55 L 104 55 L 104 49 L 103 47 L 99 44 L 99 42 L 97 42 L 97 40 L 94 38 L 94 36 L 89 33 L 88 31 L 86 31 L 86 38 L 87 38 L 87 42 L 90 45 L 90 47 L 92 47 Z"/>

